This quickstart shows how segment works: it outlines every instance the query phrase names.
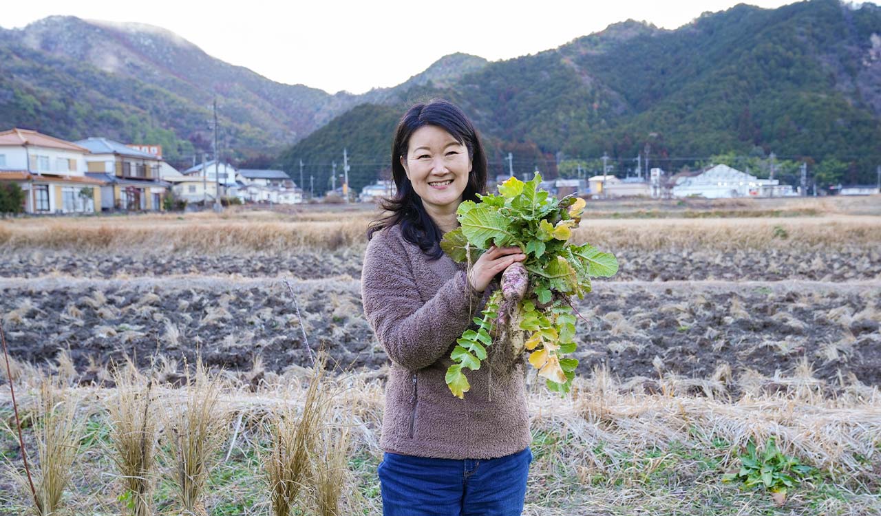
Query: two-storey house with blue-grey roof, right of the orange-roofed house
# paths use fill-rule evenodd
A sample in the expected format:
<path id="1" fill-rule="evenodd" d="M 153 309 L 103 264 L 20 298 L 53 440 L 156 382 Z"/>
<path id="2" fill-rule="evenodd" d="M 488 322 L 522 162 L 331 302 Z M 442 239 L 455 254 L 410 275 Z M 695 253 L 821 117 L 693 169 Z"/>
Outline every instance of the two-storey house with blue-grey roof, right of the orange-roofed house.
<path id="1" fill-rule="evenodd" d="M 160 179 L 160 158 L 103 137 L 89 137 L 76 144 L 89 150 L 86 175 L 105 183 L 101 210 L 162 210 L 171 185 Z"/>

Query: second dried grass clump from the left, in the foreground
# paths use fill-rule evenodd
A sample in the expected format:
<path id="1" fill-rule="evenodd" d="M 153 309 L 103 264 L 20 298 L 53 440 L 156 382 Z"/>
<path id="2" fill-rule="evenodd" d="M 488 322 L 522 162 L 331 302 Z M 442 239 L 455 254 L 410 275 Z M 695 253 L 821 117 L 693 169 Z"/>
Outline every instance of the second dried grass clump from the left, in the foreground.
<path id="1" fill-rule="evenodd" d="M 152 514 L 152 475 L 156 467 L 155 443 L 159 431 L 153 405 L 152 379 L 129 363 L 113 375 L 116 396 L 107 400 L 110 441 L 127 502 L 123 510 L 132 516 Z"/>

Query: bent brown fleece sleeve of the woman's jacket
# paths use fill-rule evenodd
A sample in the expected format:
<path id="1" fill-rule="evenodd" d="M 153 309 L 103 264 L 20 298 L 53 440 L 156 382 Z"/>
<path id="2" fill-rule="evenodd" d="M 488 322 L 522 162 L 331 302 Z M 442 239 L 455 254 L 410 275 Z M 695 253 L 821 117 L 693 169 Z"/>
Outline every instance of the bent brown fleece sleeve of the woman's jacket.
<path id="1" fill-rule="evenodd" d="M 364 315 L 396 364 L 411 371 L 432 365 L 468 328 L 482 298 L 460 270 L 423 303 L 402 243 L 376 235 L 367 244 L 361 271 Z"/>

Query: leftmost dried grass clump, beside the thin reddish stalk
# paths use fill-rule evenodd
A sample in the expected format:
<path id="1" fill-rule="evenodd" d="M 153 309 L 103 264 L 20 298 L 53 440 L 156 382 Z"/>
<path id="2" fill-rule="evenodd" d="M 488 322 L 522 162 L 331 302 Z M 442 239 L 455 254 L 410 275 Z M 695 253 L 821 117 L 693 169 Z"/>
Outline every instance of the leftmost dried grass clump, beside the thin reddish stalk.
<path id="1" fill-rule="evenodd" d="M 27 472 L 12 470 L 12 476 L 33 501 L 33 513 L 39 516 L 59 514 L 64 491 L 73 480 L 73 463 L 84 437 L 85 418 L 77 417 L 77 402 L 64 399 L 62 390 L 51 380 L 42 379 L 33 415 L 37 461 L 31 464 L 33 490 Z"/>

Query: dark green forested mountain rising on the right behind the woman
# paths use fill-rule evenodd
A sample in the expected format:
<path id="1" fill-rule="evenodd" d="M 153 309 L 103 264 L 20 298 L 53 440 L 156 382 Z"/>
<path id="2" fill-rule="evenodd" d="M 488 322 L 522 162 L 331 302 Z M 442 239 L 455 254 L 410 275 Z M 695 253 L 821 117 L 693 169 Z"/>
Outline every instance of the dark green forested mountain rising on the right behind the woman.
<path id="1" fill-rule="evenodd" d="M 454 85 L 410 90 L 411 99 L 433 96 L 470 114 L 496 173 L 507 171 L 507 152 L 515 173 L 540 168 L 546 175 L 558 158 L 608 152 L 623 175 L 648 145 L 653 163 L 668 170 L 721 153 L 774 151 L 789 168 L 777 177 L 789 181 L 804 160 L 838 170 L 829 182 L 874 183 L 881 10 L 811 0 L 775 10 L 739 4 L 677 30 L 631 20 L 537 55 L 487 63 Z M 357 132 L 344 129 L 349 117 L 333 122 L 347 135 L 338 147 L 371 132 L 360 122 Z M 284 156 L 307 154 L 325 139 L 323 130 Z M 366 156 L 388 162 L 390 139 Z"/>

